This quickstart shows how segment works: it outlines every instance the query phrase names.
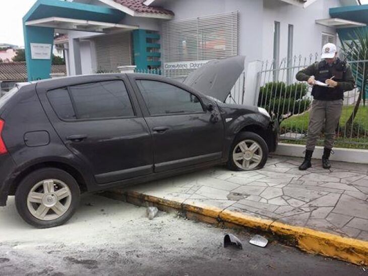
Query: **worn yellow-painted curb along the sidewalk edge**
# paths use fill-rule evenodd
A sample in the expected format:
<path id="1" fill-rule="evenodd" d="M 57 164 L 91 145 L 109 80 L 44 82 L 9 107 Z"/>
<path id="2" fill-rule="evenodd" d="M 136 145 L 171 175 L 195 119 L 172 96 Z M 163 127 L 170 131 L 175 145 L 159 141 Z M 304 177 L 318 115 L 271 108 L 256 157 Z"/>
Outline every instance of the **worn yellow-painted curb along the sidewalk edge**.
<path id="1" fill-rule="evenodd" d="M 245 227 L 263 231 L 282 242 L 286 242 L 288 245 L 296 246 L 309 253 L 321 254 L 358 265 L 368 265 L 368 242 L 365 241 L 286 225 L 236 211 L 202 205 L 196 206 L 138 192 L 114 189 L 104 192 L 104 195 L 139 206 L 154 205 L 163 211 L 179 211 L 189 219 L 196 219 L 205 223 L 223 223 L 226 227 Z"/>

